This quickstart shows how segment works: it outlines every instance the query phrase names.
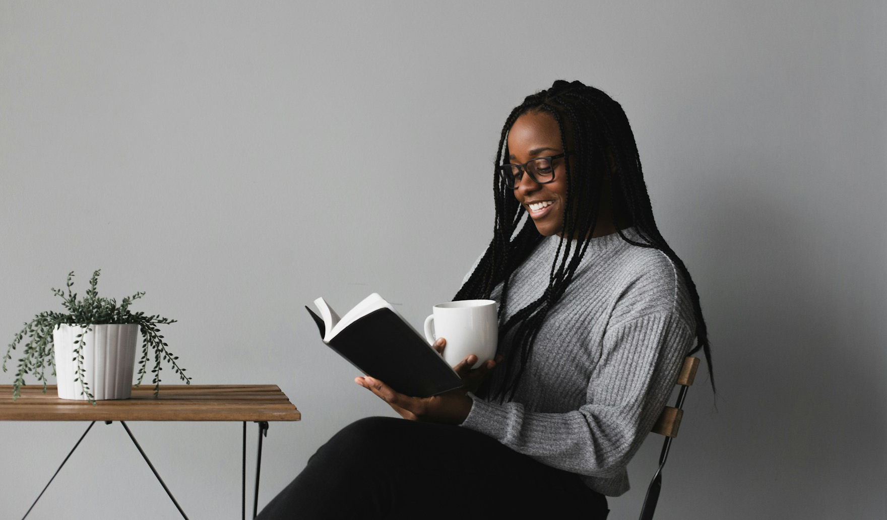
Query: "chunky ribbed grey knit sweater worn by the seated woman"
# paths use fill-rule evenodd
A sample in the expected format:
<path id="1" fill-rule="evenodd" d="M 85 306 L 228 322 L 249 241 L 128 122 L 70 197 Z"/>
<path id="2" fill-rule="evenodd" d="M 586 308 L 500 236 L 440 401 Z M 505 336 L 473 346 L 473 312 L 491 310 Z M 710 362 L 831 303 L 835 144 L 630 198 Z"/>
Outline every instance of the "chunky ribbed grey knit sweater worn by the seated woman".
<path id="1" fill-rule="evenodd" d="M 638 236 L 634 228 L 624 233 Z M 514 271 L 502 323 L 542 295 L 558 240 L 544 239 Z M 500 302 L 500 293 L 501 285 L 491 297 Z M 597 492 L 621 495 L 628 461 L 671 395 L 694 338 L 693 306 L 668 256 L 618 233 L 593 239 L 548 311 L 514 400 L 499 405 L 469 394 L 474 403 L 462 426 L 580 474 Z M 494 382 L 503 372 L 493 371 Z"/>

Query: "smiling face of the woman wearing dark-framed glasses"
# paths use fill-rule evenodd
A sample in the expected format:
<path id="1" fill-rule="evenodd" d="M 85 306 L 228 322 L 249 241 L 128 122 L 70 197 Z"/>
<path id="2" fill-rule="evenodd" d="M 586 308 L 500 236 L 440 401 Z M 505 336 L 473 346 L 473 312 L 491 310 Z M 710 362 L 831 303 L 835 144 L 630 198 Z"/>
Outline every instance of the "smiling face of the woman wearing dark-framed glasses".
<path id="1" fill-rule="evenodd" d="M 508 130 L 508 158 L 512 164 L 523 164 L 538 157 L 562 154 L 561 130 L 547 112 L 530 112 L 517 118 Z M 515 184 L 514 198 L 530 214 L 536 229 L 543 236 L 560 233 L 563 228 L 563 210 L 567 204 L 565 158 L 553 162 L 554 179 L 538 184 L 525 172 Z"/>

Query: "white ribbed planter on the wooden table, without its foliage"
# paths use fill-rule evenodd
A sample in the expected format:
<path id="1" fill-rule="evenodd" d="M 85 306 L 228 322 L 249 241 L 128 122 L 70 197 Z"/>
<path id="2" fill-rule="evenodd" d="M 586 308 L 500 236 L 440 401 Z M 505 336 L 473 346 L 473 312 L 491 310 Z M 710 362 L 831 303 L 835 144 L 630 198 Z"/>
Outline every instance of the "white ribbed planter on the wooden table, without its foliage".
<path id="1" fill-rule="evenodd" d="M 97 401 L 130 398 L 132 372 L 136 366 L 138 325 L 90 325 L 90 329 L 84 335 L 86 344 L 81 350 L 82 367 L 86 372 L 83 381 L 90 386 L 90 392 Z M 83 327 L 61 325 L 52 332 L 59 398 L 87 400 L 85 395 L 81 395 L 80 382 L 74 381 L 77 377 L 77 362 L 74 360 L 76 335 L 85 330 Z"/>

